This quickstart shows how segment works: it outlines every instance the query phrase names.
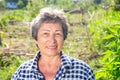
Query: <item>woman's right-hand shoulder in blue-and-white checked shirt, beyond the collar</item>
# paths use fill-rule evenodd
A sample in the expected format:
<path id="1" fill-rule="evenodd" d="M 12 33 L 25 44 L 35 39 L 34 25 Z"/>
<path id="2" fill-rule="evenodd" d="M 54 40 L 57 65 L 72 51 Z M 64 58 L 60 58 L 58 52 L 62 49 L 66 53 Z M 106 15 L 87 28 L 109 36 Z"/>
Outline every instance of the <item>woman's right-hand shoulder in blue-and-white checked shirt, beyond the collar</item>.
<path id="1" fill-rule="evenodd" d="M 67 67 L 69 74 L 94 80 L 93 70 L 85 61 L 67 55 L 65 55 L 64 59 L 69 64 Z"/>

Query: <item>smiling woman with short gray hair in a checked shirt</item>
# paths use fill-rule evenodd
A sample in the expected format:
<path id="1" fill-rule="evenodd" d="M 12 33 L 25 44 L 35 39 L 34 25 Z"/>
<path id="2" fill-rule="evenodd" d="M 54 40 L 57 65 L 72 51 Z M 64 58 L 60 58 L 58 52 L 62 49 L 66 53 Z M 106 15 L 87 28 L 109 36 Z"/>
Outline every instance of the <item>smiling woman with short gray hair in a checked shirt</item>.
<path id="1" fill-rule="evenodd" d="M 41 9 L 31 31 L 39 52 L 18 68 L 12 80 L 94 80 L 86 63 L 62 51 L 68 34 L 68 22 L 62 10 Z"/>

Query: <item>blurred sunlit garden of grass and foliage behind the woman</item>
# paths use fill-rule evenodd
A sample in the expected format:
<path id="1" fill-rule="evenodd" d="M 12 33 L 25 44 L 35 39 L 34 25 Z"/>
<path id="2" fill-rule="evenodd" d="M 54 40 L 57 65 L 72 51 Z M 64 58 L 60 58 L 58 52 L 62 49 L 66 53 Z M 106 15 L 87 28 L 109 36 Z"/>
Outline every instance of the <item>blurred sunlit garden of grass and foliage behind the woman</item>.
<path id="1" fill-rule="evenodd" d="M 29 27 L 43 7 L 66 11 L 82 7 L 84 14 L 66 12 L 71 25 L 63 51 L 87 62 L 96 80 L 120 80 L 120 8 L 116 6 L 119 0 L 81 0 L 78 3 L 31 0 L 26 6 L 24 0 L 16 1 L 19 6 L 16 10 L 6 9 L 5 1 L 0 1 L 0 80 L 10 80 L 18 66 L 38 50 L 29 37 Z"/>

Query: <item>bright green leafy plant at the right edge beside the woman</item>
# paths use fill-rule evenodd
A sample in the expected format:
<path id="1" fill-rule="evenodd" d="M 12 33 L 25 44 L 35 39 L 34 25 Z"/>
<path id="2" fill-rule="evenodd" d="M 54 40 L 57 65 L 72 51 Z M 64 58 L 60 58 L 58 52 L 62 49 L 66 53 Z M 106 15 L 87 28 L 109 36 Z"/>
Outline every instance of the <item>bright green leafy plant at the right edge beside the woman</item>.
<path id="1" fill-rule="evenodd" d="M 97 79 L 119 80 L 120 79 L 120 25 L 114 25 L 107 30 L 103 37 L 104 57 L 100 58 L 103 65 L 96 74 Z"/>

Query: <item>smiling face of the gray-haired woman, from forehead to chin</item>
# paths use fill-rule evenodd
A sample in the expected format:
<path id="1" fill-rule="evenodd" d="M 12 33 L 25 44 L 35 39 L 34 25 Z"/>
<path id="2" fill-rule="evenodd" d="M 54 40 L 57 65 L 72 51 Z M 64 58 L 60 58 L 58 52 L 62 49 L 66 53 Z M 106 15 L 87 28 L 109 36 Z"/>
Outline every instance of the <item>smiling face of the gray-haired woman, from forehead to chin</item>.
<path id="1" fill-rule="evenodd" d="M 63 31 L 59 23 L 43 23 L 40 26 L 36 44 L 40 49 L 41 55 L 59 55 L 63 42 Z"/>

